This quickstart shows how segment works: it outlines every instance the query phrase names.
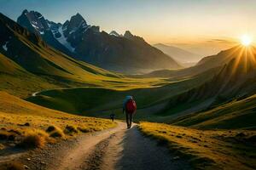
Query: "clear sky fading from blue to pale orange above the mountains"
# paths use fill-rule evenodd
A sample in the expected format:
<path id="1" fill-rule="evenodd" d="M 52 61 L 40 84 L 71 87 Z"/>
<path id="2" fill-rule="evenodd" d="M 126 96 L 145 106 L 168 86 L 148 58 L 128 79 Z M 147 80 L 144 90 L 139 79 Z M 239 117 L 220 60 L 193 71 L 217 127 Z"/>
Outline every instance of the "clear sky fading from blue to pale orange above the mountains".
<path id="1" fill-rule="evenodd" d="M 162 42 L 198 54 L 256 35 L 256 0 L 0 0 L 0 12 L 16 20 L 23 9 L 64 22 L 80 13 L 103 31 L 130 30 L 149 43 Z"/>

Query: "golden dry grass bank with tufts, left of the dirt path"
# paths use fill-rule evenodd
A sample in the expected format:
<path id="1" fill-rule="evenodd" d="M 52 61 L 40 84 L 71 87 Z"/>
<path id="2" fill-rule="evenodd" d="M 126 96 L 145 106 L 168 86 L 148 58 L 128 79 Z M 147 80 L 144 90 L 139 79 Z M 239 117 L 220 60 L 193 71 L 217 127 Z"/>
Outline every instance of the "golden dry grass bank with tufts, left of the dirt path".
<path id="1" fill-rule="evenodd" d="M 79 132 L 93 133 L 116 123 L 94 117 L 73 116 L 26 102 L 6 93 L 0 99 L 0 144 L 32 149 L 70 139 Z M 64 131 L 68 131 L 67 134 Z M 4 149 L 3 149 L 4 150 Z"/>

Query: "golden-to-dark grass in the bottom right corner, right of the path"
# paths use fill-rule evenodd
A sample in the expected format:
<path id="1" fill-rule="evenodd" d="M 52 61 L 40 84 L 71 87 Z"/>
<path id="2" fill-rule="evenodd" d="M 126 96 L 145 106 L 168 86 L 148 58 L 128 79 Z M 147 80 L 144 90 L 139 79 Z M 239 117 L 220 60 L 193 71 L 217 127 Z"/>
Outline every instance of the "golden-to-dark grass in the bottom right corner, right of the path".
<path id="1" fill-rule="evenodd" d="M 200 130 L 151 122 L 141 122 L 140 129 L 189 158 L 195 168 L 256 168 L 255 131 Z"/>

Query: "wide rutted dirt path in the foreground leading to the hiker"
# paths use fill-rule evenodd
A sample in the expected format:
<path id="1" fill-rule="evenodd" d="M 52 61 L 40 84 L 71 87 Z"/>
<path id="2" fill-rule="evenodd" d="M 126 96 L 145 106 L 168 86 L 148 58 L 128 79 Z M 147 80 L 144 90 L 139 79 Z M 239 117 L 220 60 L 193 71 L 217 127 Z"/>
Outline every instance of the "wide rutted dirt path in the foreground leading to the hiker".
<path id="1" fill-rule="evenodd" d="M 36 150 L 26 165 L 49 170 L 189 169 L 186 161 L 174 157 L 154 140 L 145 138 L 136 126 L 127 130 L 125 123 L 119 122 L 113 129 Z"/>

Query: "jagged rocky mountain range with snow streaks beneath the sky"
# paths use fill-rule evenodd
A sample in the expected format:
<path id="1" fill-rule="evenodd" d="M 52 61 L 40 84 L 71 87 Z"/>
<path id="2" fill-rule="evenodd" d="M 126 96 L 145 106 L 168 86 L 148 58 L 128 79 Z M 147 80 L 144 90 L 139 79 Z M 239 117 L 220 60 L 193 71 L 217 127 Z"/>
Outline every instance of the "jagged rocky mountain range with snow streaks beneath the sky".
<path id="1" fill-rule="evenodd" d="M 100 31 L 99 26 L 88 25 L 79 13 L 61 24 L 46 20 L 36 11 L 24 10 L 17 23 L 62 53 L 109 71 L 131 74 L 182 68 L 142 37 L 130 31 L 125 31 L 124 36 L 116 31 L 110 34 Z"/>

